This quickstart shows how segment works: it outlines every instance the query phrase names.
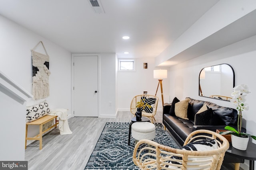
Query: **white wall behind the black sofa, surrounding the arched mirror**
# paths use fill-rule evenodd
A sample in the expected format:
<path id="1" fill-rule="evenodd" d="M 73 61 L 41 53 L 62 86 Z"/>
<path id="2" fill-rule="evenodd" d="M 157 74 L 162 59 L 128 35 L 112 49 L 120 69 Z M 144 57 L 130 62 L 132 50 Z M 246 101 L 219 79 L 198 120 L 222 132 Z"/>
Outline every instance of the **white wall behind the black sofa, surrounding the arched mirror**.
<path id="1" fill-rule="evenodd" d="M 206 66 L 217 64 L 230 64 L 235 72 L 235 85 L 247 84 L 251 93 L 247 95 L 248 111 L 243 111 L 246 120 L 242 126 L 246 127 L 247 133 L 256 135 L 256 116 L 254 111 L 256 95 L 256 36 L 234 43 L 222 49 L 197 57 L 190 61 L 172 66 L 170 68 L 170 94 L 180 100 L 186 97 L 216 103 L 220 106 L 235 108 L 227 101 L 210 99 L 198 96 L 198 76 L 200 70 Z M 214 88 L 214 87 L 212 87 Z M 232 90 L 232 89 L 231 89 Z M 255 141 L 253 141 L 256 143 Z M 248 163 L 248 161 L 246 161 Z M 241 165 L 242 166 L 242 165 Z M 248 167 L 247 167 L 248 168 Z"/>

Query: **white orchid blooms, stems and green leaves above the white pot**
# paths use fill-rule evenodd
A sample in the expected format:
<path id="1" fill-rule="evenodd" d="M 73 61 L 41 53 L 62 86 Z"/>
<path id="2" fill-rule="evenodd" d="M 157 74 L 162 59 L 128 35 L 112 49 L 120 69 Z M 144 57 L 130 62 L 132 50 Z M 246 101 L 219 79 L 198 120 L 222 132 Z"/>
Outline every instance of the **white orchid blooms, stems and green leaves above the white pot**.
<path id="1" fill-rule="evenodd" d="M 246 84 L 241 84 L 233 88 L 233 92 L 231 93 L 232 99 L 230 100 L 230 102 L 232 102 L 236 106 L 236 109 L 239 111 L 237 130 L 234 127 L 226 126 L 225 129 L 228 131 L 220 132 L 221 135 L 232 134 L 238 137 L 251 136 L 253 139 L 256 140 L 256 136 L 241 132 L 242 111 L 246 111 L 249 109 L 248 104 L 244 103 L 246 101 L 246 95 L 248 93 L 250 93 L 250 90 Z"/>

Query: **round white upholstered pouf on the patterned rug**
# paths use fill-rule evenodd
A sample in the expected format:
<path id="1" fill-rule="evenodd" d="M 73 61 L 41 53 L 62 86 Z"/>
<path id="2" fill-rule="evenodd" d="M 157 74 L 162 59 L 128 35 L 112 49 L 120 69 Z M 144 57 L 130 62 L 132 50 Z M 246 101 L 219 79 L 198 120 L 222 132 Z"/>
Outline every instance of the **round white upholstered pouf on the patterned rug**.
<path id="1" fill-rule="evenodd" d="M 150 122 L 135 122 L 132 124 L 132 137 L 137 141 L 141 139 L 152 140 L 156 135 L 156 126 Z"/>

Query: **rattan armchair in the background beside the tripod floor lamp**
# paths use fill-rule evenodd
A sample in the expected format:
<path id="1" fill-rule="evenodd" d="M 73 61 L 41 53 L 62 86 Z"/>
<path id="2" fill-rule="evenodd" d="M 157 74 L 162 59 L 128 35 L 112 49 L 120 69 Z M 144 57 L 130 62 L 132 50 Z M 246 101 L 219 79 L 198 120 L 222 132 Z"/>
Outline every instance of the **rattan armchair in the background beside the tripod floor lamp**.
<path id="1" fill-rule="evenodd" d="M 156 109 L 157 109 L 158 100 L 159 100 L 159 98 L 157 96 L 147 95 L 147 94 L 146 95 L 135 96 L 132 99 L 132 102 L 131 102 L 131 105 L 130 105 L 130 111 L 131 111 L 132 114 L 135 115 L 135 113 L 137 111 L 136 104 L 137 104 L 137 102 L 140 102 L 142 96 L 146 97 L 146 98 L 156 98 L 156 102 L 155 102 L 154 106 L 151 105 L 152 108 L 153 108 L 153 113 L 147 113 L 146 111 L 142 111 L 142 116 L 150 118 L 151 122 L 154 123 L 154 120 L 156 121 L 154 116 L 156 115 Z"/>

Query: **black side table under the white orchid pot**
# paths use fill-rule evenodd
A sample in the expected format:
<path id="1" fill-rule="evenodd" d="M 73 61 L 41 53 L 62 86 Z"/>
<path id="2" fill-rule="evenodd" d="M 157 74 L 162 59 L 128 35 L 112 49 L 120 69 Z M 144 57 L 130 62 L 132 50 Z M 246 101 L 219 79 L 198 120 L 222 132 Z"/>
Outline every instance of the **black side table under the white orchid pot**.
<path id="1" fill-rule="evenodd" d="M 252 141 L 249 141 L 246 150 L 235 149 L 234 147 L 232 147 L 232 143 L 229 143 L 229 145 L 230 147 L 225 154 L 232 155 L 237 158 L 250 160 L 249 170 L 254 170 L 254 160 L 256 160 L 256 145 L 252 143 Z"/>

